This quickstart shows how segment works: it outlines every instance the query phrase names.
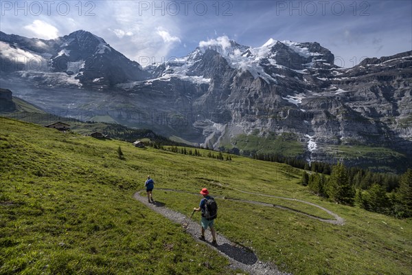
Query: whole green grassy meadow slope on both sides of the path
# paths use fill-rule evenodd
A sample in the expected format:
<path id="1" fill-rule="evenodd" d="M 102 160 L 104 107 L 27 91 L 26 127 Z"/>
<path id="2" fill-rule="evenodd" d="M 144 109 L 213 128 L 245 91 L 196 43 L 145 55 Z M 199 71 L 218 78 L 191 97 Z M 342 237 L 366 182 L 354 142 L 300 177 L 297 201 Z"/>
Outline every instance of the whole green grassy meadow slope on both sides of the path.
<path id="1" fill-rule="evenodd" d="M 214 250 L 132 198 L 146 175 L 154 197 L 191 214 L 198 193 L 280 204 L 303 199 L 345 225 L 288 210 L 218 199 L 216 229 L 293 274 L 410 274 L 412 219 L 336 205 L 298 184 L 301 170 L 139 149 L 0 118 L 0 274 L 236 274 Z M 124 160 L 117 157 L 121 146 Z M 207 151 L 201 150 L 204 155 Z M 172 188 L 185 192 L 167 192 Z M 286 206 L 325 215 L 297 201 Z M 198 219 L 198 215 L 196 219 Z"/>

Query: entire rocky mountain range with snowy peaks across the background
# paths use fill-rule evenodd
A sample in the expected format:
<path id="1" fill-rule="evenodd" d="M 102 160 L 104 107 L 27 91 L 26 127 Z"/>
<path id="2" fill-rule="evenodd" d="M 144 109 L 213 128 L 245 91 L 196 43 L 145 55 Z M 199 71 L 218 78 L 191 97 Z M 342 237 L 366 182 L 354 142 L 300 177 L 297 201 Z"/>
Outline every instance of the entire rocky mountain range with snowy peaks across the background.
<path id="1" fill-rule="evenodd" d="M 405 168 L 412 159 L 412 52 L 345 69 L 316 42 L 269 39 L 253 48 L 222 39 L 141 70 L 89 32 L 54 41 L 1 34 L 0 41 L 7 45 L 2 62 L 22 51 L 52 54 L 49 72 L 20 68 L 2 78 L 2 87 L 15 86 L 47 111 L 150 128 L 244 155 L 376 170 Z"/>

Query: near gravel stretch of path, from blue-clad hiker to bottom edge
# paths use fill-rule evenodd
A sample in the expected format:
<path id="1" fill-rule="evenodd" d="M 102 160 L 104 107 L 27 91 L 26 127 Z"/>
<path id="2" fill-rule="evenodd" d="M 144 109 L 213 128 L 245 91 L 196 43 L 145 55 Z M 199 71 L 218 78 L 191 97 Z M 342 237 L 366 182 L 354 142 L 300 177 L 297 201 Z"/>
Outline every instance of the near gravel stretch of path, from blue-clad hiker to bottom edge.
<path id="1" fill-rule="evenodd" d="M 201 225 L 198 222 L 194 222 L 186 217 L 184 214 L 166 208 L 163 203 L 159 203 L 155 201 L 155 203 L 148 203 L 148 199 L 146 194 L 143 196 L 140 193 L 143 191 L 136 192 L 133 197 L 144 203 L 144 205 L 148 206 L 148 208 L 162 214 L 164 217 L 170 219 L 175 223 L 187 223 L 186 232 L 191 234 L 196 241 L 203 242 L 198 240 L 198 236 L 200 236 L 199 232 L 201 232 Z M 211 240 L 210 231 L 207 230 L 206 239 Z M 205 241 L 211 248 L 218 250 L 221 254 L 229 259 L 230 267 L 233 269 L 239 268 L 244 270 L 245 272 L 249 272 L 249 274 L 256 274 L 256 275 L 264 275 L 264 274 L 273 274 L 273 275 L 290 275 L 288 273 L 279 272 L 277 267 L 271 263 L 262 263 L 259 261 L 258 257 L 242 246 L 237 245 L 236 243 L 232 243 L 229 239 L 225 238 L 221 234 L 216 233 L 216 239 L 218 241 L 218 246 L 214 247 L 211 245 L 210 241 Z"/>

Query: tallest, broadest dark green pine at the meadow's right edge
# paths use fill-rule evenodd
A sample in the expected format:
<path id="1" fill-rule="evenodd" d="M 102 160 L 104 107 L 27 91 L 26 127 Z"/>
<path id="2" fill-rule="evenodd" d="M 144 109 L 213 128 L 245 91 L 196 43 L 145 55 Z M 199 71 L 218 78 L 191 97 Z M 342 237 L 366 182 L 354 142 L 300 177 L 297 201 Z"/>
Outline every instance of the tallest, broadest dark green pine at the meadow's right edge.
<path id="1" fill-rule="evenodd" d="M 328 182 L 328 195 L 338 203 L 352 206 L 354 203 L 355 190 L 349 182 L 347 169 L 343 164 L 332 167 L 332 175 Z"/>

